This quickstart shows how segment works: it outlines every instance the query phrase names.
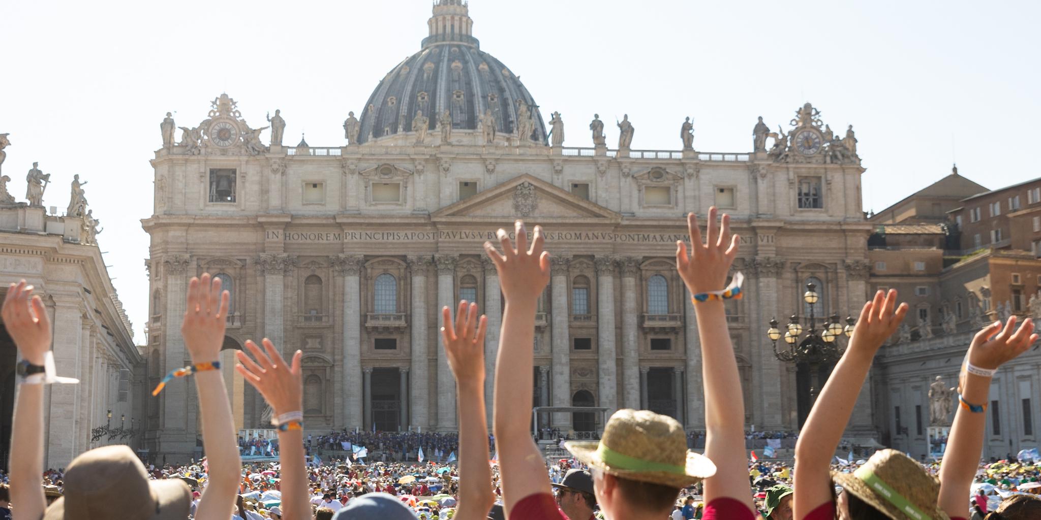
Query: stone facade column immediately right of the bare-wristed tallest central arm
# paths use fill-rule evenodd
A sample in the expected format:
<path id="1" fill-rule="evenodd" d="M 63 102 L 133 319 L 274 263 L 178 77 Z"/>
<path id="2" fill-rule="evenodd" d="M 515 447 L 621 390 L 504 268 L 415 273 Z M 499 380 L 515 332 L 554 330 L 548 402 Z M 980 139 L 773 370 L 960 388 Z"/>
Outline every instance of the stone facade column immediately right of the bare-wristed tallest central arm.
<path id="1" fill-rule="evenodd" d="M 572 257 L 566 255 L 550 257 L 553 296 L 553 392 L 550 396 L 554 407 L 569 407 L 572 397 L 570 309 L 567 307 L 567 275 Z M 553 425 L 562 432 L 570 430 L 572 414 L 553 414 Z"/>

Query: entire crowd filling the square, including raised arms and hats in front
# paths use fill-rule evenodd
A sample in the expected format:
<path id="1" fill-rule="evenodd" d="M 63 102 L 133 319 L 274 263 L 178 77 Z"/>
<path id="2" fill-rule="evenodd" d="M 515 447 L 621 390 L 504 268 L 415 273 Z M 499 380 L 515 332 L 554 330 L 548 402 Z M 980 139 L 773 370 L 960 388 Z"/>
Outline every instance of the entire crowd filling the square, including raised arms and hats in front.
<path id="1" fill-rule="evenodd" d="M 872 359 L 908 312 L 895 290 L 878 291 L 856 322 L 845 354 L 820 390 L 798 433 L 797 470 L 777 463 L 750 465 L 745 444 L 756 437 L 744 423 L 742 387 L 723 301 L 741 296 L 743 277 L 731 277 L 739 239 L 728 215 L 708 213 L 705 230 L 688 215 L 689 243 L 677 242 L 676 264 L 693 302 L 702 348 L 705 402 L 704 453 L 671 417 L 619 410 L 599 439 L 563 442 L 566 459 L 549 464 L 530 432 L 537 302 L 550 279 L 550 253 L 536 227 L 499 230 L 486 242 L 503 294 L 502 330 L 494 363 L 493 438 L 485 412 L 484 336 L 487 320 L 477 305 L 461 302 L 453 318 L 442 309 L 445 355 L 456 380 L 457 464 L 372 463 L 351 458 L 308 458 L 304 439 L 300 360 L 286 361 L 268 339 L 246 342 L 235 369 L 273 410 L 280 451 L 277 462 L 244 466 L 219 359 L 228 292 L 208 274 L 188 284 L 181 334 L 193 364 L 163 379 L 191 376 L 199 398 L 206 459 L 187 467 L 146 468 L 126 446 L 80 454 L 48 474 L 54 496 L 40 485 L 43 468 L 44 388 L 64 383 L 53 373 L 51 329 L 43 301 L 23 281 L 12 284 L 0 311 L 27 368 L 20 370 L 11 436 L 10 487 L 4 488 L 16 520 L 58 518 L 195 520 L 414 520 L 593 518 L 703 520 L 987 520 L 1041 518 L 1037 466 L 1004 461 L 980 466 L 990 381 L 1038 336 L 1034 323 L 994 322 L 973 338 L 962 363 L 955 415 L 942 462 L 922 465 L 893 450 L 866 460 L 836 461 L 845 425 Z M 704 236 L 704 238 L 703 238 Z M 1018 327 L 1017 327 L 1018 324 Z M 33 373 L 39 371 L 40 373 Z M 361 437 L 332 433 L 321 443 L 386 441 L 391 449 L 448 438 L 425 434 Z M 365 434 L 369 435 L 369 434 Z M 414 435 L 414 437 L 410 437 Z M 429 434 L 426 434 L 429 435 Z M 396 439 L 396 440 L 388 440 Z M 488 460 L 490 442 L 497 443 Z M 342 447 L 342 444 L 341 446 Z M 837 464 L 838 463 L 838 464 Z M 1002 494 L 1005 496 L 1002 496 Z M 997 496 L 998 499 L 991 497 Z M 0 495 L 2 496 L 2 495 Z M 981 498 L 982 497 L 982 498 Z M 970 501 L 971 500 L 971 501 Z M 983 502 L 983 503 L 981 503 Z M 971 505 L 970 505 L 971 504 Z"/>

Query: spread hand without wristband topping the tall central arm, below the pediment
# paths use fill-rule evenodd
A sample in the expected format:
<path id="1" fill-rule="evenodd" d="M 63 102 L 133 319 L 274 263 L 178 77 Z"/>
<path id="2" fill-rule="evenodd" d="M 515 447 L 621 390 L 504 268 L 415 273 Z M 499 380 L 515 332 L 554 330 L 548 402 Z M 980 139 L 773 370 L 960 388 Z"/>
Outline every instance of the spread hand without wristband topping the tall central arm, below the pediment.
<path id="1" fill-rule="evenodd" d="M 510 241 L 506 230 L 500 229 L 499 243 L 503 254 L 496 251 L 491 242 L 484 242 L 484 251 L 499 271 L 499 285 L 507 301 L 529 300 L 534 302 L 550 283 L 550 253 L 542 251 L 542 228 L 535 226 L 531 249 L 528 248 L 528 231 L 524 223 L 514 224 L 516 248 Z"/>

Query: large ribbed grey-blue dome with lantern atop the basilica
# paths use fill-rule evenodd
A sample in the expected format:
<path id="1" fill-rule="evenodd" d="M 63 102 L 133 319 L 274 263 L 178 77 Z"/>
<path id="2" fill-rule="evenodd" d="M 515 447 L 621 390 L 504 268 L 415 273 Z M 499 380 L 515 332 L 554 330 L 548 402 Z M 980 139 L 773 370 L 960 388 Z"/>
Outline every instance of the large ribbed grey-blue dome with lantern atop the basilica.
<path id="1" fill-rule="evenodd" d="M 528 139 L 547 144 L 538 105 L 513 71 L 481 51 L 472 35 L 474 21 L 468 10 L 462 0 L 434 3 L 423 49 L 398 63 L 370 96 L 361 113 L 359 142 L 410 132 L 421 111 L 431 132 L 446 110 L 453 131 L 478 130 L 481 118 L 490 110 L 497 134 L 514 134 L 526 110 L 523 102 L 533 120 L 527 125 L 533 127 Z"/>

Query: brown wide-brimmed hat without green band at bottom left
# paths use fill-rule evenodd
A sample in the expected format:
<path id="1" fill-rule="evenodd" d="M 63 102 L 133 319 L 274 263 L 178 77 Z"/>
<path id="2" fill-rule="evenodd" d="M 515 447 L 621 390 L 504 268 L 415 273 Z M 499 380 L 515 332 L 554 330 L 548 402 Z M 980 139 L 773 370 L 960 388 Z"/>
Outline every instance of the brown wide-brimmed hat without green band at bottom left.
<path id="1" fill-rule="evenodd" d="M 182 480 L 150 480 L 129 447 L 104 446 L 72 461 L 65 496 L 47 508 L 44 520 L 184 520 L 191 505 Z"/>

